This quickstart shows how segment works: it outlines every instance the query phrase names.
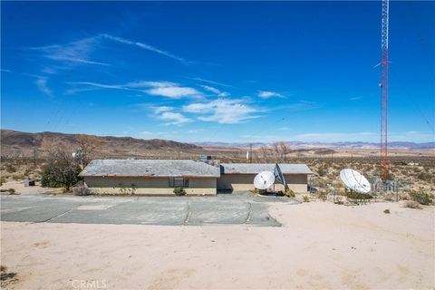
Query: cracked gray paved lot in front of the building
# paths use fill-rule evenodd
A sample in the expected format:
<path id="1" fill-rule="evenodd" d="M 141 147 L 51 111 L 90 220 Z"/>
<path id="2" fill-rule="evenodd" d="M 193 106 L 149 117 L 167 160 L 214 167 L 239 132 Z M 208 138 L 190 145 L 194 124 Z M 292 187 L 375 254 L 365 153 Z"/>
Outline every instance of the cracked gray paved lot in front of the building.
<path id="1" fill-rule="evenodd" d="M 270 202 L 296 203 L 294 199 L 263 198 L 252 194 L 162 198 L 16 195 L 1 197 L 1 220 L 36 223 L 279 227 L 280 224 L 267 212 L 267 204 Z"/>

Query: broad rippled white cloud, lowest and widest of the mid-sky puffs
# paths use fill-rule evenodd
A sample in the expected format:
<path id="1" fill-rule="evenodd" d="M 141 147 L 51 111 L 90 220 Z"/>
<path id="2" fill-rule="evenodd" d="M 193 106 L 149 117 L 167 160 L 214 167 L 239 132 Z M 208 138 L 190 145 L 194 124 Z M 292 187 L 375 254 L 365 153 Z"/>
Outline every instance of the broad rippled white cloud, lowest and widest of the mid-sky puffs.
<path id="1" fill-rule="evenodd" d="M 234 124 L 257 118 L 257 116 L 252 115 L 257 110 L 244 104 L 241 100 L 218 99 L 212 102 L 191 103 L 184 106 L 183 111 L 209 114 L 208 116 L 199 116 L 198 120 L 217 121 L 218 123 L 225 124 Z"/>

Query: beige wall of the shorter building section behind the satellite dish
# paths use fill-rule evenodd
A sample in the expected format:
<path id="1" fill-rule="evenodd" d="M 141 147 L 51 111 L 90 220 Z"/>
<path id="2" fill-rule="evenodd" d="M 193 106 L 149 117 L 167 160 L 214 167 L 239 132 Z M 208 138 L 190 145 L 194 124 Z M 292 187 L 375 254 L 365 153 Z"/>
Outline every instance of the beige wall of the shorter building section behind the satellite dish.
<path id="1" fill-rule="evenodd" d="M 219 190 L 254 190 L 254 178 L 256 174 L 222 174 L 218 179 Z M 285 174 L 285 181 L 288 188 L 295 192 L 304 193 L 307 191 L 306 174 Z M 275 190 L 284 190 L 282 184 L 275 184 Z"/>

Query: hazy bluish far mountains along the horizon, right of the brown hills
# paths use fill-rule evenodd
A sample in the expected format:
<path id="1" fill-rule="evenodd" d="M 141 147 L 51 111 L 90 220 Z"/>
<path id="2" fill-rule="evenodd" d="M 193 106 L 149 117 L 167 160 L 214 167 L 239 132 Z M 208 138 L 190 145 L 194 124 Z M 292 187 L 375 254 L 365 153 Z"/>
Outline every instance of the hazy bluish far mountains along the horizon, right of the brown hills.
<path id="1" fill-rule="evenodd" d="M 200 146 L 216 146 L 216 147 L 243 147 L 247 148 L 250 144 L 253 147 L 270 146 L 272 143 L 237 143 L 237 142 L 195 142 Z M 357 149 L 357 148 L 379 148 L 380 143 L 374 142 L 302 142 L 302 141 L 288 141 L 285 142 L 288 146 L 294 148 L 330 148 L 330 149 Z M 389 148 L 394 149 L 435 149 L 435 142 L 416 143 L 406 141 L 394 141 L 388 143 Z"/>

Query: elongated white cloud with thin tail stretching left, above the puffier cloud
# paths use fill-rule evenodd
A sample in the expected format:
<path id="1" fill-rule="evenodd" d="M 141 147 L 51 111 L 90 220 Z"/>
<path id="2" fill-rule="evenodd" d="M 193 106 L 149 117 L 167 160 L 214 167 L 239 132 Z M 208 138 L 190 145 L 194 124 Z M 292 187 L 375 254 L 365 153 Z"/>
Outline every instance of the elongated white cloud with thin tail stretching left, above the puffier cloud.
<path id="1" fill-rule="evenodd" d="M 202 97 L 203 93 L 198 90 L 182 86 L 177 82 L 127 82 L 123 84 L 105 84 L 99 82 L 69 82 L 74 85 L 92 86 L 100 89 L 127 90 L 144 92 L 153 96 L 162 96 L 170 99 L 180 99 L 184 97 Z"/>

